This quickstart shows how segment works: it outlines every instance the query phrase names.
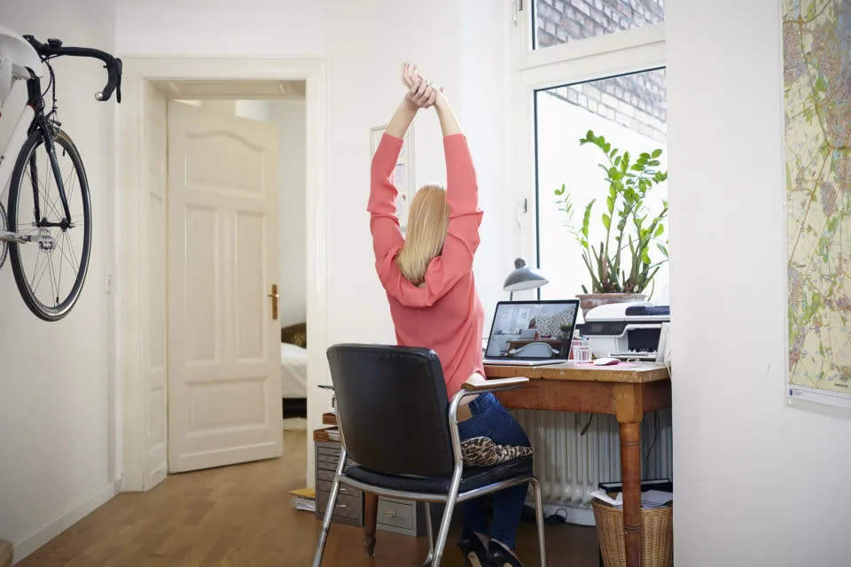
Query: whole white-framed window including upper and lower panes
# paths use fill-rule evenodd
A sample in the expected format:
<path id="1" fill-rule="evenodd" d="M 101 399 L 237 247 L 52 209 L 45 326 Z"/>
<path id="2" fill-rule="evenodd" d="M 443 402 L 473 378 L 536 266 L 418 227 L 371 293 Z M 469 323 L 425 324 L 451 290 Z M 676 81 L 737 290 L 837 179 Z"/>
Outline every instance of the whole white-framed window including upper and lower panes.
<path id="1" fill-rule="evenodd" d="M 612 148 L 629 151 L 632 163 L 642 152 L 660 151 L 654 167 L 668 169 L 664 0 L 527 0 L 517 6 L 516 249 L 550 279 L 540 290 L 543 299 L 570 298 L 583 285 L 593 291 L 572 228 L 582 227 L 585 207 L 596 198 L 588 240 L 599 247 L 609 189 L 599 168 L 604 152 L 580 138 L 589 130 L 605 136 Z M 562 184 L 572 219 L 559 210 L 564 196 L 555 191 Z M 648 190 L 650 219 L 663 210 L 666 185 L 652 183 Z M 663 225 L 649 251 L 652 263 L 666 259 L 667 217 Z M 628 250 L 624 255 L 632 259 Z M 667 263 L 644 293 L 657 304 L 668 302 Z"/>

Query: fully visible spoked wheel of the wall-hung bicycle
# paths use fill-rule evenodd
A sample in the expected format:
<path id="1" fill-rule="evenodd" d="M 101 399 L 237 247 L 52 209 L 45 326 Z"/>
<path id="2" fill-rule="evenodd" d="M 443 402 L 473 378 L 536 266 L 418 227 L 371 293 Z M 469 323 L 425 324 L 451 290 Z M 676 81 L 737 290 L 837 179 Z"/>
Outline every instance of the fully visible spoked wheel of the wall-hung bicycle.
<path id="1" fill-rule="evenodd" d="M 35 130 L 20 149 L 9 189 L 9 229 L 38 241 L 9 244 L 21 298 L 44 321 L 59 321 L 80 298 L 89 269 L 89 182 L 80 154 L 65 132 L 52 131 L 71 226 L 59 227 L 65 210 L 44 138 Z M 38 217 L 35 215 L 36 205 Z"/>

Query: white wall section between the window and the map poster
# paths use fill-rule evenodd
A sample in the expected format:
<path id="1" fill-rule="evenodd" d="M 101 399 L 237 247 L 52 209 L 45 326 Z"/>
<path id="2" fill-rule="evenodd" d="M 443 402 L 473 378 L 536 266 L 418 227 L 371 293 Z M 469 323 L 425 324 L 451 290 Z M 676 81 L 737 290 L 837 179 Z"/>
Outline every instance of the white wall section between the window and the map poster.
<path id="1" fill-rule="evenodd" d="M 833 566 L 851 556 L 851 422 L 784 400 L 779 6 L 666 3 L 683 567 Z"/>

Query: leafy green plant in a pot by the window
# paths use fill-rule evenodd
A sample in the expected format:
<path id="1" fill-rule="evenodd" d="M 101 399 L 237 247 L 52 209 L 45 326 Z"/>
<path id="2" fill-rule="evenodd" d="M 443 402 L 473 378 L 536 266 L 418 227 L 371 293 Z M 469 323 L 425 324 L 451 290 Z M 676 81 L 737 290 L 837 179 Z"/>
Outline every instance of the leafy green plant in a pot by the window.
<path id="1" fill-rule="evenodd" d="M 605 171 L 608 186 L 605 209 L 599 217 L 605 240 L 598 246 L 589 243 L 591 215 L 597 199 L 591 199 L 585 206 L 582 227 L 576 229 L 570 193 L 564 184 L 555 191 L 558 209 L 566 214 L 566 226 L 582 246 L 582 261 L 591 276 L 591 292 L 582 285 L 584 293 L 576 296 L 585 315 L 589 309 L 605 303 L 647 298 L 644 291 L 652 284 L 660 266 L 668 261 L 668 240 L 662 238 L 668 201 L 662 201 L 658 214 L 648 212 L 645 201 L 653 187 L 668 179 L 668 172 L 658 169 L 660 148 L 644 151 L 633 160 L 628 151 L 613 148 L 604 136 L 596 136 L 591 130 L 580 138 L 579 144 L 593 144 L 603 152 L 599 167 Z M 651 251 L 657 250 L 662 255 L 658 261 L 651 257 Z M 650 295 L 652 290 L 651 287 Z"/>

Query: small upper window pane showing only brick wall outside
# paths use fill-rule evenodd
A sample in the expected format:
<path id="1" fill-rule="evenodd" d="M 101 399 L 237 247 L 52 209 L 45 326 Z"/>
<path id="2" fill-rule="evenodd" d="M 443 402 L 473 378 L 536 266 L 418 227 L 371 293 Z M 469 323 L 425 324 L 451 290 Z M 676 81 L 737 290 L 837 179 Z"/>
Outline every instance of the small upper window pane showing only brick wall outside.
<path id="1" fill-rule="evenodd" d="M 664 0 L 531 0 L 533 48 L 660 24 Z"/>

